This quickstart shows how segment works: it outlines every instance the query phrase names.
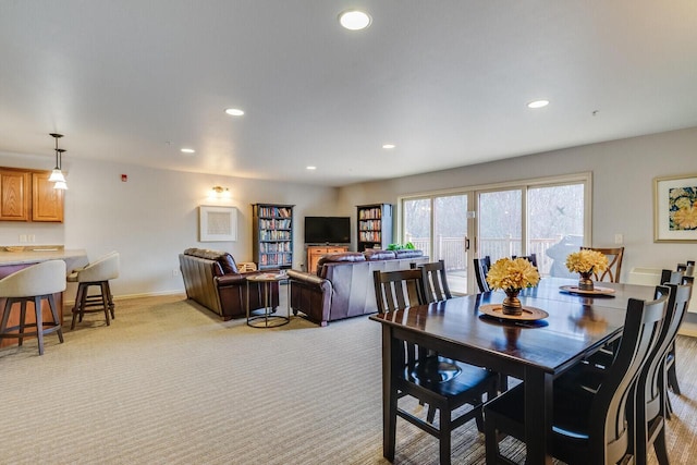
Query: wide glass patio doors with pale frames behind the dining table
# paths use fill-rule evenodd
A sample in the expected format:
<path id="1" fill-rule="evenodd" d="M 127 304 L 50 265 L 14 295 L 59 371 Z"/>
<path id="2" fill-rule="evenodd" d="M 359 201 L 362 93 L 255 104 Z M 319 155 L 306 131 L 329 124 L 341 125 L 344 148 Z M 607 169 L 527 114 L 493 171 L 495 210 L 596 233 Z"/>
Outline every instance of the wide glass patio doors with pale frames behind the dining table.
<path id="1" fill-rule="evenodd" d="M 590 232 L 590 184 L 582 173 L 403 197 L 400 235 L 445 260 L 455 293 L 473 289 L 468 264 L 487 255 L 535 254 L 541 276 L 567 277 L 566 255 Z"/>

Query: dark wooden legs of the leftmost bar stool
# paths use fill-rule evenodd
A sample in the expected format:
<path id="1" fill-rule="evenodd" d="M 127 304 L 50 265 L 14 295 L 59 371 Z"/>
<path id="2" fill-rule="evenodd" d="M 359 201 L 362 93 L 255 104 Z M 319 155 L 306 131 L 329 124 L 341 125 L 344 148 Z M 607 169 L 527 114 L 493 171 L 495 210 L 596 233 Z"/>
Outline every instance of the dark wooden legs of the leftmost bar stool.
<path id="1" fill-rule="evenodd" d="M 44 327 L 44 316 L 41 309 L 41 301 L 47 299 L 48 306 L 51 310 L 52 322 L 48 328 Z M 34 302 L 34 313 L 36 315 L 36 322 L 26 323 L 26 303 Z M 12 304 L 20 304 L 20 323 L 17 326 L 8 328 L 8 321 L 10 319 L 10 311 Z M 26 332 L 27 327 L 36 327 L 36 331 Z M 14 332 L 16 331 L 16 332 Z M 29 335 L 36 335 L 39 345 L 39 355 L 44 355 L 44 335 L 50 332 L 57 332 L 58 339 L 63 343 L 63 330 L 61 321 L 58 317 L 58 308 L 56 307 L 56 299 L 53 294 L 36 295 L 33 297 L 8 297 L 4 305 L 4 315 L 2 316 L 2 322 L 0 323 L 0 338 L 13 338 L 17 339 L 17 345 L 23 345 L 24 338 Z"/>

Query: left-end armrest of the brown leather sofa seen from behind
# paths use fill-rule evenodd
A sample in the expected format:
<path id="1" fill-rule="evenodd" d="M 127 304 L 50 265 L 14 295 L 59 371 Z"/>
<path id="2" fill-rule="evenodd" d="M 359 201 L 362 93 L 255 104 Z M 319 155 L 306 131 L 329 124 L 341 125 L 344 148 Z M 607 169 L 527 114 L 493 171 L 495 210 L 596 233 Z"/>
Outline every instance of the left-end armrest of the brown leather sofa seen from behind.
<path id="1" fill-rule="evenodd" d="M 302 311 L 310 321 L 327 326 L 333 293 L 331 281 L 296 270 L 288 270 L 288 277 L 293 314 Z"/>

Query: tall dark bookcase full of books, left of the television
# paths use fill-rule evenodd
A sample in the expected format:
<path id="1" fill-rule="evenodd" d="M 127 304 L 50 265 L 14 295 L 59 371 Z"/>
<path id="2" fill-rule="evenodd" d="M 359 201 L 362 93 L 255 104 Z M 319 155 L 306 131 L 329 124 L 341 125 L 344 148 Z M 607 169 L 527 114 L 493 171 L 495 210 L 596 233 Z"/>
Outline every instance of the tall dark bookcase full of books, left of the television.
<path id="1" fill-rule="evenodd" d="M 257 268 L 293 266 L 294 205 L 253 204 L 253 254 Z"/>

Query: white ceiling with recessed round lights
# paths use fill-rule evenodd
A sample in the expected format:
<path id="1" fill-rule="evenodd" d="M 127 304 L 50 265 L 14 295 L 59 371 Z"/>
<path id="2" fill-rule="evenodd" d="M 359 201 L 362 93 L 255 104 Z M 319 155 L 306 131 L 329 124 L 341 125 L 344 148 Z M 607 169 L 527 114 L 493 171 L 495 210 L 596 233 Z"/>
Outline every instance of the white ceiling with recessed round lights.
<path id="1" fill-rule="evenodd" d="M 60 132 L 70 163 L 339 186 L 697 126 L 696 83 L 695 0 L 0 0 L 0 151 L 47 169 Z"/>

